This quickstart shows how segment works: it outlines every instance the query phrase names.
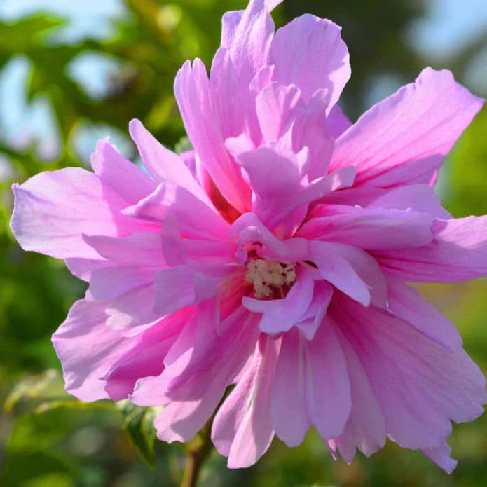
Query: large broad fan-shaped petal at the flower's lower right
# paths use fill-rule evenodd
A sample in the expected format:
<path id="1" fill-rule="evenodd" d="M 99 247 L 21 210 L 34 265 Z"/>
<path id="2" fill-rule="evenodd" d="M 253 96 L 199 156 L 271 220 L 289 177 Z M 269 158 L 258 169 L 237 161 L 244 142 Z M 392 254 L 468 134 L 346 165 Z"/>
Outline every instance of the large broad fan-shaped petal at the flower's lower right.
<path id="1" fill-rule="evenodd" d="M 464 350 L 449 352 L 415 327 L 343 297 L 331 314 L 364 366 L 388 436 L 432 450 L 451 434 L 450 420 L 472 421 L 487 402 L 486 380 Z"/>

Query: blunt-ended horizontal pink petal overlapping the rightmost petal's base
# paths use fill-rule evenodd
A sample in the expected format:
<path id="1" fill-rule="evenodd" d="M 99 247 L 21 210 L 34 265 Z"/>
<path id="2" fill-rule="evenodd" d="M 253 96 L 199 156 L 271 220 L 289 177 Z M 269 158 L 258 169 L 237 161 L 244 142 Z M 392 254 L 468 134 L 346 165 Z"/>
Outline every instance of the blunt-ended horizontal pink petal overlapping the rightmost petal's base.
<path id="1" fill-rule="evenodd" d="M 366 250 L 422 247 L 432 241 L 430 214 L 350 205 L 320 205 L 299 235 Z"/>

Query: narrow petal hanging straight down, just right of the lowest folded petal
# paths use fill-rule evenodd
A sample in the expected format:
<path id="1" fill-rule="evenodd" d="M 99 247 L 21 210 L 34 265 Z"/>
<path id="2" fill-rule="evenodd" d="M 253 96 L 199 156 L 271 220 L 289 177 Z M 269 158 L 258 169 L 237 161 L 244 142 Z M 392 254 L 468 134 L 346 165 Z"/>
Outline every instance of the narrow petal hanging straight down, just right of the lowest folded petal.
<path id="1" fill-rule="evenodd" d="M 270 402 L 275 434 L 287 446 L 298 446 L 310 427 L 306 409 L 306 341 L 293 329 L 282 336 Z"/>

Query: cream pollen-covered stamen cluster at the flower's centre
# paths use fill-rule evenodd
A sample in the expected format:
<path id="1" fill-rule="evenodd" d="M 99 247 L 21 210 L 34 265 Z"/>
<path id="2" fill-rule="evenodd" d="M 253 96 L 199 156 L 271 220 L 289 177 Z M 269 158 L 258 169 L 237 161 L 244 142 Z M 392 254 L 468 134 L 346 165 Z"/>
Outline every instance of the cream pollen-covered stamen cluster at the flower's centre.
<path id="1" fill-rule="evenodd" d="M 294 267 L 295 264 L 254 259 L 247 263 L 245 280 L 252 282 L 256 299 L 270 298 L 274 296 L 275 291 L 279 297 L 284 297 L 296 280 Z"/>

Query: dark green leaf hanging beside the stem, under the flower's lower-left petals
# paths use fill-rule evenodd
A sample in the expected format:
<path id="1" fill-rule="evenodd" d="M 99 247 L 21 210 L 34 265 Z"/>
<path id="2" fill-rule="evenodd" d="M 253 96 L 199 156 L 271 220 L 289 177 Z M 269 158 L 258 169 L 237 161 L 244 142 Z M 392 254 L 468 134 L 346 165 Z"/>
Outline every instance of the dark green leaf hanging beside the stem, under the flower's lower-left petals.
<path id="1" fill-rule="evenodd" d="M 130 435 L 132 444 L 137 448 L 141 458 L 149 467 L 156 466 L 154 446 L 156 444 L 156 428 L 153 425 L 158 408 L 135 406 L 128 399 L 117 403 L 123 420 L 123 427 Z"/>

